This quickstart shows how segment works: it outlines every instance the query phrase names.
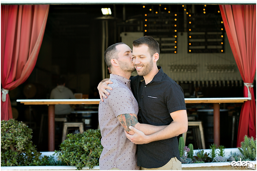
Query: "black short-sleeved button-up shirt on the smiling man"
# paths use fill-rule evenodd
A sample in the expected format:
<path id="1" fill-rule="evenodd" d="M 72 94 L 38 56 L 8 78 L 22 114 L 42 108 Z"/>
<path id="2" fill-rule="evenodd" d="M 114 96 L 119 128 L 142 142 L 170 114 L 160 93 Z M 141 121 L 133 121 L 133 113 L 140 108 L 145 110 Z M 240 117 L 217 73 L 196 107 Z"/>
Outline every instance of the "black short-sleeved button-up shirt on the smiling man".
<path id="1" fill-rule="evenodd" d="M 182 88 L 167 76 L 158 66 L 159 72 L 152 81 L 145 84 L 143 76 L 131 77 L 131 90 L 138 101 L 138 122 L 150 125 L 169 125 L 173 119 L 170 113 L 186 110 Z M 138 144 L 138 166 L 159 168 L 177 157 L 180 160 L 178 139 L 154 141 Z"/>

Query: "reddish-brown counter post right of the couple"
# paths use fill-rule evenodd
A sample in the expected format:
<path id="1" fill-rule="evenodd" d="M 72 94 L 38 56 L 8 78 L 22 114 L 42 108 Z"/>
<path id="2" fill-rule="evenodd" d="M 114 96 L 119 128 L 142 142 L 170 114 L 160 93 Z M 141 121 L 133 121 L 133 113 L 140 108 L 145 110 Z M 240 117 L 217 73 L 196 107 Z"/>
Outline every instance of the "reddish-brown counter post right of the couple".
<path id="1" fill-rule="evenodd" d="M 220 146 L 220 104 L 213 103 L 214 144 Z"/>

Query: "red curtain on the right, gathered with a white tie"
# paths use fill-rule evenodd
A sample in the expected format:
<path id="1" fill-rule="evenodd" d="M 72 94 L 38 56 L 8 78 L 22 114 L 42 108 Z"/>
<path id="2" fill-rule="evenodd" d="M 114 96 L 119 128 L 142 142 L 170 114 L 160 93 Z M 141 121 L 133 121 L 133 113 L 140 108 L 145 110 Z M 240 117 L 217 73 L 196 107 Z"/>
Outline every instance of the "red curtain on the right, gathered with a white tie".
<path id="1" fill-rule="evenodd" d="M 256 103 L 252 82 L 256 72 L 256 5 L 220 5 L 220 12 L 236 64 L 245 83 L 237 146 L 244 136 L 256 138 Z M 250 83 L 250 84 L 247 84 Z"/>

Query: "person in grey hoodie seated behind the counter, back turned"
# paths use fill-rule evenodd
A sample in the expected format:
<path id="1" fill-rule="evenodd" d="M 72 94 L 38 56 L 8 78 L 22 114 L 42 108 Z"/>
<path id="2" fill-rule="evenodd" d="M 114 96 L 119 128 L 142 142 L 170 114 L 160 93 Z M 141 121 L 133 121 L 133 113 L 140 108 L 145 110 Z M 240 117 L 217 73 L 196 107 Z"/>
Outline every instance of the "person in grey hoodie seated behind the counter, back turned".
<path id="1" fill-rule="evenodd" d="M 73 92 L 65 87 L 65 78 L 60 77 L 50 94 L 50 99 L 75 99 Z M 71 113 L 70 105 L 55 105 L 55 117 L 67 117 Z"/>

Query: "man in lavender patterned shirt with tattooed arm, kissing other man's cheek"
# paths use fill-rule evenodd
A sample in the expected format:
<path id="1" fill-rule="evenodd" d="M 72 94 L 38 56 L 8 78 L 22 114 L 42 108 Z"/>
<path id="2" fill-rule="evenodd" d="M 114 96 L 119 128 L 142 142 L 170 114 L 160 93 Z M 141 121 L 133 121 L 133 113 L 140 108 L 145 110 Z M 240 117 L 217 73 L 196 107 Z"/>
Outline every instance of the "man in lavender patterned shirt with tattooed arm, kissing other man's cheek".
<path id="1" fill-rule="evenodd" d="M 99 103 L 99 125 L 103 152 L 99 159 L 100 170 L 139 170 L 136 144 L 127 139 L 134 131 L 128 127 L 151 135 L 166 127 L 140 124 L 137 120 L 138 103 L 130 89 L 130 76 L 135 70 L 132 50 L 125 43 L 116 43 L 105 51 L 105 62 L 110 67 L 112 90 Z M 109 79 L 108 79 L 109 80 Z M 103 80 L 104 81 L 104 80 Z M 125 130 L 125 131 L 124 131 Z"/>

